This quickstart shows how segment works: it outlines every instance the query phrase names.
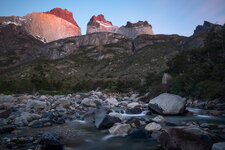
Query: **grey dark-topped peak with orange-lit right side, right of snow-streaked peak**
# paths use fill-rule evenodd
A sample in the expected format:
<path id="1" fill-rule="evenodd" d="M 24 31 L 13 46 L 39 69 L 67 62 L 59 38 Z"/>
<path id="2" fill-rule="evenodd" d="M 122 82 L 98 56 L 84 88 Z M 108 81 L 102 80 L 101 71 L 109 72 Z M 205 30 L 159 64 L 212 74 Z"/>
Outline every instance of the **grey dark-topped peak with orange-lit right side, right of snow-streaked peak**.
<path id="1" fill-rule="evenodd" d="M 136 38 L 141 34 L 154 34 L 152 31 L 152 26 L 147 21 L 138 21 L 137 23 L 131 23 L 128 21 L 126 26 L 122 26 L 118 29 L 117 33 L 128 38 Z"/>

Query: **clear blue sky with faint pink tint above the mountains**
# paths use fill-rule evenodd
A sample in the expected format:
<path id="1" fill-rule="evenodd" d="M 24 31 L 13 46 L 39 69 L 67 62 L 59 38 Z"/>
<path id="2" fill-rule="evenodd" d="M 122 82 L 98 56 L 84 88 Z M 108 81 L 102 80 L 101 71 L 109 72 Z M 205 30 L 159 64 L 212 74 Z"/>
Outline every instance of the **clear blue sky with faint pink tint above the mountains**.
<path id="1" fill-rule="evenodd" d="M 190 36 L 197 25 L 225 23 L 225 0 L 0 0 L 0 16 L 24 16 L 53 8 L 68 9 L 86 33 L 93 15 L 118 27 L 147 20 L 155 34 Z"/>

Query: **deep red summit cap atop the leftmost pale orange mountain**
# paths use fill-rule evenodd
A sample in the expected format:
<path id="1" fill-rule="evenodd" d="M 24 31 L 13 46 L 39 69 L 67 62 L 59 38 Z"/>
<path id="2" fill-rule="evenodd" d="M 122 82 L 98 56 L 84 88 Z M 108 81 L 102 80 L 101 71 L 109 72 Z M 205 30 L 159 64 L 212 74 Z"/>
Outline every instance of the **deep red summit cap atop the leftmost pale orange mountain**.
<path id="1" fill-rule="evenodd" d="M 62 8 L 54 8 L 50 11 L 45 12 L 46 14 L 52 14 L 55 15 L 59 18 L 62 18 L 72 24 L 74 24 L 75 26 L 78 27 L 77 22 L 74 20 L 73 18 L 73 13 L 68 11 L 67 9 L 62 9 Z"/>

